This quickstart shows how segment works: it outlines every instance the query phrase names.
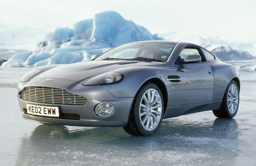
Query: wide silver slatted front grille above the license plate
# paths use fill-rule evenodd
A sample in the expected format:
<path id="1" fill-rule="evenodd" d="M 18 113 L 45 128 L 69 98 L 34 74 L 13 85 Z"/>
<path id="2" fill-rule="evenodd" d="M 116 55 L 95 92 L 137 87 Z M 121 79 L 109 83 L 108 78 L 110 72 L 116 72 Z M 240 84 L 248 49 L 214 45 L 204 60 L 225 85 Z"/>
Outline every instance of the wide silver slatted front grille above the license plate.
<path id="1" fill-rule="evenodd" d="M 26 87 L 20 92 L 20 98 L 46 104 L 84 105 L 87 103 L 85 98 L 73 95 L 66 90 L 46 87 Z"/>

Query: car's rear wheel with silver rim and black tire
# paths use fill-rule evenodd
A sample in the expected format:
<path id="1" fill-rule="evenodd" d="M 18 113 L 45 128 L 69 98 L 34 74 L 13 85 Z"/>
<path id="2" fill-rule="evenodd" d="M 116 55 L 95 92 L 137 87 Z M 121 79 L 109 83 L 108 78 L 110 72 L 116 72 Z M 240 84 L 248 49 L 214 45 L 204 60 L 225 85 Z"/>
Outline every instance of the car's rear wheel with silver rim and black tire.
<path id="1" fill-rule="evenodd" d="M 225 91 L 221 108 L 213 110 L 213 114 L 218 118 L 233 118 L 236 116 L 239 106 L 239 88 L 236 81 L 232 80 Z"/>

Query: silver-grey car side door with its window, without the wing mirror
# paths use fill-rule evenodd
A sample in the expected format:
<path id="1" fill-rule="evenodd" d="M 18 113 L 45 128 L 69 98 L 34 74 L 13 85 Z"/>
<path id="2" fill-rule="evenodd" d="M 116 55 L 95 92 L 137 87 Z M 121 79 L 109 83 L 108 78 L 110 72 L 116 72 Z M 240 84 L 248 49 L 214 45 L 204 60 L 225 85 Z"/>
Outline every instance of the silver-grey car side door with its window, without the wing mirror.
<path id="1" fill-rule="evenodd" d="M 198 47 L 185 47 L 179 56 L 184 60 L 187 55 L 200 55 L 201 62 L 180 65 L 183 78 L 181 105 L 211 101 L 213 98 L 213 74 L 210 62 L 206 62 Z"/>

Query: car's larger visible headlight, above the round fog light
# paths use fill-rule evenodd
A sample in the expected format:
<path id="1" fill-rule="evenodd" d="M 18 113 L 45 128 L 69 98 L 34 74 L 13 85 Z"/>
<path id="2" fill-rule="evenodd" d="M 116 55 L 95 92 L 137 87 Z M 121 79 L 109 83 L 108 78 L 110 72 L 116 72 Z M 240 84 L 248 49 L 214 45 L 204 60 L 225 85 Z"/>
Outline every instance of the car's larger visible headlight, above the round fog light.
<path id="1" fill-rule="evenodd" d="M 83 82 L 83 86 L 92 86 L 92 85 L 104 85 L 104 84 L 115 84 L 121 82 L 124 79 L 124 76 L 121 73 L 111 71 L 98 75 L 93 78 L 89 78 Z"/>

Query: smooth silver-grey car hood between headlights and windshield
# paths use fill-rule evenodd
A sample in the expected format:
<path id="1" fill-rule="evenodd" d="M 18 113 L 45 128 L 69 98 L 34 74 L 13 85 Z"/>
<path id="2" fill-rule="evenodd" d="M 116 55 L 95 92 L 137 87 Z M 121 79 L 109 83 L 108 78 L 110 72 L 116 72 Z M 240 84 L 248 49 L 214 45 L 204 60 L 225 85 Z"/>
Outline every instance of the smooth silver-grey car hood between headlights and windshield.
<path id="1" fill-rule="evenodd" d="M 163 62 L 140 62 L 140 61 L 127 61 L 127 60 L 100 60 L 100 61 L 87 61 L 78 62 L 74 64 L 59 65 L 52 67 L 37 75 L 33 79 L 38 78 L 58 78 L 65 80 L 72 80 L 82 83 L 89 77 L 113 71 L 116 69 L 126 67 L 139 67 L 139 66 L 156 66 Z"/>

